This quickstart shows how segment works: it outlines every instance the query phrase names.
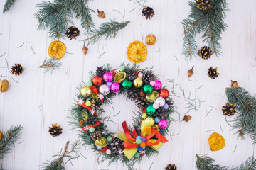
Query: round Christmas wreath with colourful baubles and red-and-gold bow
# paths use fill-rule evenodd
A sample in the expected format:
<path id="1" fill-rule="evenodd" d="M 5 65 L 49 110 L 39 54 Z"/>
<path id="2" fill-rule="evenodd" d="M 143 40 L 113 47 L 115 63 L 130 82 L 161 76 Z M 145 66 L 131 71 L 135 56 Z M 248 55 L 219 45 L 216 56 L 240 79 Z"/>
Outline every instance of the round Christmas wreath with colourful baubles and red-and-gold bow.
<path id="1" fill-rule="evenodd" d="M 164 135 L 174 112 L 169 91 L 151 69 L 140 69 L 137 64 L 122 64 L 117 69 L 97 67 L 91 72 L 90 81 L 78 87 L 78 101 L 71 110 L 73 124 L 81 129 L 83 145 L 102 155 L 102 161 L 109 164 L 121 159 L 126 166 L 132 166 L 142 157 L 151 157 L 167 142 Z M 110 104 L 117 94 L 127 96 L 139 108 L 139 118 L 134 118 L 132 128 L 122 123 L 123 131 L 116 135 L 109 132 L 102 116 L 102 104 Z"/>

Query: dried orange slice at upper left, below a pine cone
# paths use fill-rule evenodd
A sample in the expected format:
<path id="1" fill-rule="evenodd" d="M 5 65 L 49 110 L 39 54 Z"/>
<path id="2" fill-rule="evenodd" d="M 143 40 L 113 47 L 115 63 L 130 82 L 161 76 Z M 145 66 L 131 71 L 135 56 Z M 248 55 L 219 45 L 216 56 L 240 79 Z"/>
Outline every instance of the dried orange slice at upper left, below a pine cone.
<path id="1" fill-rule="evenodd" d="M 65 44 L 57 40 L 50 43 L 48 53 L 53 59 L 61 59 L 65 55 L 65 50 Z"/>

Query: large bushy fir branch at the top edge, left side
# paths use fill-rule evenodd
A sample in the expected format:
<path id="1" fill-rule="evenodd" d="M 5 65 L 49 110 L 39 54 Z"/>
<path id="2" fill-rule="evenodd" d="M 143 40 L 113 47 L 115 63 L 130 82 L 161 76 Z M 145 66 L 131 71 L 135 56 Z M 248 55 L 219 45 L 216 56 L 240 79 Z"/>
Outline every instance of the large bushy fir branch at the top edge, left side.
<path id="1" fill-rule="evenodd" d="M 37 4 L 40 8 L 35 14 L 38 19 L 38 29 L 48 28 L 50 37 L 54 39 L 64 38 L 68 29 L 68 23 L 73 24 L 73 13 L 75 18 L 81 20 L 81 26 L 85 32 L 90 30 L 94 23 L 87 7 L 88 0 L 55 0 L 44 1 Z"/>

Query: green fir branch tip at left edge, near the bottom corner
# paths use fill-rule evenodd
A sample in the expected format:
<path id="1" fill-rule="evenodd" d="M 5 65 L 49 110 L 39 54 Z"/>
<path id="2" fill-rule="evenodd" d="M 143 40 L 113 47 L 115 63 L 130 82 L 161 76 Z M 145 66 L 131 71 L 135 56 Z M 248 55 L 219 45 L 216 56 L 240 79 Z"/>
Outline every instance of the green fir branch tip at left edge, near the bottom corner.
<path id="1" fill-rule="evenodd" d="M 7 132 L 3 133 L 0 140 L 0 159 L 3 159 L 4 154 L 9 153 L 11 148 L 15 147 L 14 143 L 19 139 L 21 130 L 21 125 L 13 125 Z"/>

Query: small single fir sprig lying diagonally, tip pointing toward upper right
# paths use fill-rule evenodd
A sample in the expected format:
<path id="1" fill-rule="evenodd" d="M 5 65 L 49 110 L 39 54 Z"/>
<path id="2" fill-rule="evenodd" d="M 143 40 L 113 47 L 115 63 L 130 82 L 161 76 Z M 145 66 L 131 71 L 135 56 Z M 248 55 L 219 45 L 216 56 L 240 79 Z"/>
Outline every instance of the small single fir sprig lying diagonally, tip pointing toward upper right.
<path id="1" fill-rule="evenodd" d="M 100 38 L 105 37 L 105 39 L 115 38 L 117 36 L 117 33 L 119 30 L 127 26 L 127 24 L 130 21 L 126 22 L 116 22 L 116 21 L 110 21 L 106 23 L 102 23 L 99 28 L 93 30 L 93 36 L 90 38 L 85 39 L 84 41 L 87 41 L 87 45 L 94 44 L 97 42 L 97 40 L 100 40 Z"/>

